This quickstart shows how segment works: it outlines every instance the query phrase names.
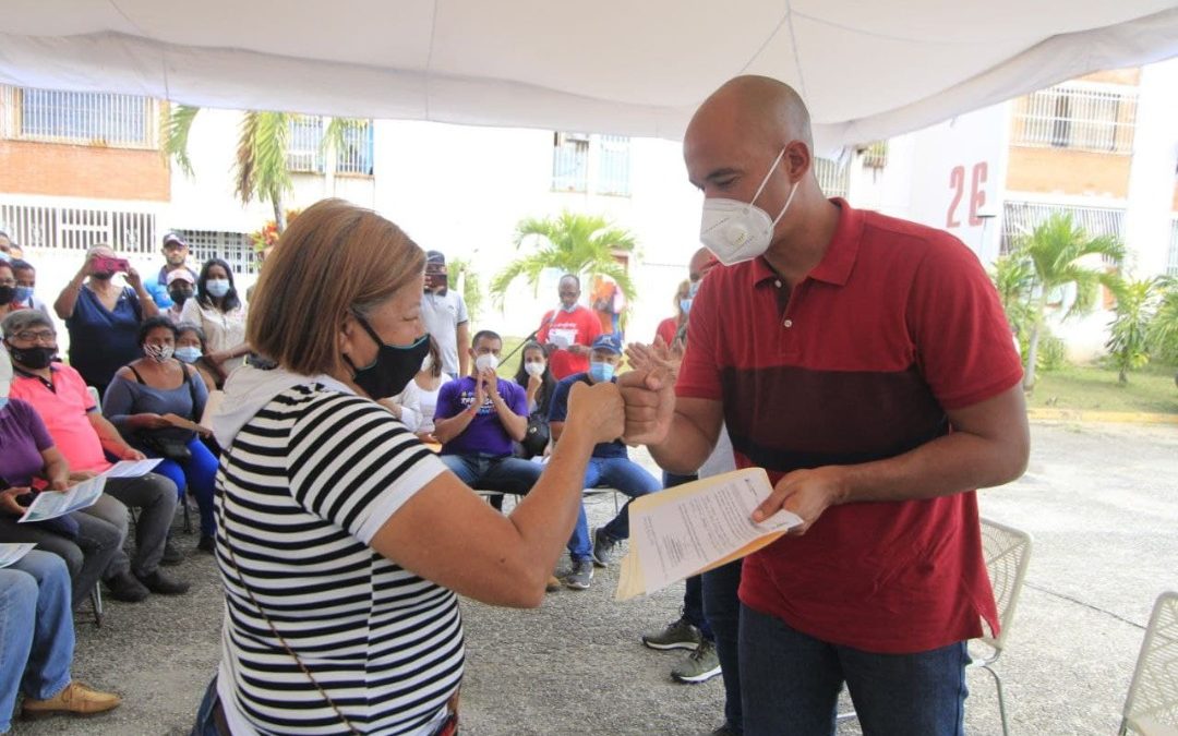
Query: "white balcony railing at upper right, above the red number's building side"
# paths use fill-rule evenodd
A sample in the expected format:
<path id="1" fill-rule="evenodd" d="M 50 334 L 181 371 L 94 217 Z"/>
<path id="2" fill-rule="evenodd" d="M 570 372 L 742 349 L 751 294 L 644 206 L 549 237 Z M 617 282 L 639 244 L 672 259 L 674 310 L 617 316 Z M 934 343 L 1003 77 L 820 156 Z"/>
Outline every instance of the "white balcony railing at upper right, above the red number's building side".
<path id="1" fill-rule="evenodd" d="M 1066 82 L 1015 101 L 1012 142 L 1130 154 L 1136 125 L 1136 89 Z"/>

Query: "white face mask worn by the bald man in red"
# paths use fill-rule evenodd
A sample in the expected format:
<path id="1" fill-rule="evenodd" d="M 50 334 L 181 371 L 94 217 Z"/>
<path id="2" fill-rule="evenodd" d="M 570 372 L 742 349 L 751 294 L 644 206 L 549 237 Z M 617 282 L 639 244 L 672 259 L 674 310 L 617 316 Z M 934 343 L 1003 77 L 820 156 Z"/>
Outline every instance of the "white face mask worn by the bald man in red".
<path id="1" fill-rule="evenodd" d="M 716 259 L 726 266 L 732 266 L 746 260 L 753 260 L 757 256 L 769 250 L 773 243 L 773 228 L 789 210 L 798 193 L 795 181 L 789 190 L 789 198 L 781 207 L 776 218 L 770 218 L 769 213 L 757 207 L 753 203 L 761 195 L 765 185 L 769 183 L 769 177 L 776 171 L 777 164 L 786 155 L 782 148 L 777 158 L 773 160 L 769 173 L 765 174 L 761 186 L 756 187 L 753 201 L 740 201 L 736 199 L 724 199 L 713 197 L 703 200 L 703 219 L 700 224 L 700 241 L 703 243 Z"/>

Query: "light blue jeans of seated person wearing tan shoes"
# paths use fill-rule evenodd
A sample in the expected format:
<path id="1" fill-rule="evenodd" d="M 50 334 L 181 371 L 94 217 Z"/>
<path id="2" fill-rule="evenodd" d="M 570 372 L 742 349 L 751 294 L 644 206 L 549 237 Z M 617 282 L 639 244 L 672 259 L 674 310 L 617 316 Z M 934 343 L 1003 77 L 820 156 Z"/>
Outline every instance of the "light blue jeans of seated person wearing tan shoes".
<path id="1" fill-rule="evenodd" d="M 0 732 L 12 725 L 16 689 L 44 701 L 70 684 L 73 612 L 70 571 L 33 550 L 0 570 Z"/>

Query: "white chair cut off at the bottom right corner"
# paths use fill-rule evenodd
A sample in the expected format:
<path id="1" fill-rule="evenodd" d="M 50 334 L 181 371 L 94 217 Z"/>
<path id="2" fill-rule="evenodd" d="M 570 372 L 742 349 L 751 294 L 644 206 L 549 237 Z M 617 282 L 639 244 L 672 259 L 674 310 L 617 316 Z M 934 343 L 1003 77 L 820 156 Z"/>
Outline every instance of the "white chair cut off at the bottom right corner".
<path id="1" fill-rule="evenodd" d="M 1153 604 L 1121 715 L 1121 736 L 1178 736 L 1178 592 Z"/>

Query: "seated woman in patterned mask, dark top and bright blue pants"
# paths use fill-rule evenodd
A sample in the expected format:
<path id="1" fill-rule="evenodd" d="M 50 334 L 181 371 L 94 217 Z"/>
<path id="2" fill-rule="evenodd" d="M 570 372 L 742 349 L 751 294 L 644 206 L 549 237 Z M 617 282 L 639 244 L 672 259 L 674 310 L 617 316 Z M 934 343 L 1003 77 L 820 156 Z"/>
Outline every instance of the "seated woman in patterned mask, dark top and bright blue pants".
<path id="1" fill-rule="evenodd" d="M 197 549 L 213 551 L 213 480 L 217 458 L 200 442 L 209 430 L 193 430 L 209 399 L 197 370 L 174 356 L 179 329 L 153 317 L 139 329 L 141 358 L 119 369 L 102 398 L 102 415 L 132 447 L 163 458 L 155 472 L 176 488 L 187 486 L 200 509 Z M 187 422 L 188 425 L 184 425 Z"/>

